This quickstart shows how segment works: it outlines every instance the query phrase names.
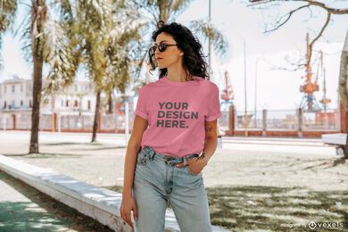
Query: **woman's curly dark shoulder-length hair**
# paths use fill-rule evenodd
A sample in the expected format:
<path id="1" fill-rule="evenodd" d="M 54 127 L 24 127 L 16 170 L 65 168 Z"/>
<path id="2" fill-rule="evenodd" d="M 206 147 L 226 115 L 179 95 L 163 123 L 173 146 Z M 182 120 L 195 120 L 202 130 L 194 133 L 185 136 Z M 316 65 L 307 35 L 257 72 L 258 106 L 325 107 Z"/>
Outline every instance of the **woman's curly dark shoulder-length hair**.
<path id="1" fill-rule="evenodd" d="M 170 24 L 159 21 L 157 23 L 157 29 L 153 31 L 153 41 L 156 41 L 158 35 L 162 32 L 169 34 L 178 44 L 178 48 L 184 53 L 183 65 L 184 69 L 188 72 L 188 79 L 193 79 L 193 76 L 200 77 L 202 79 L 210 79 L 208 73 L 208 64 L 204 61 L 204 55 L 202 51 L 202 45 L 199 40 L 192 34 L 191 30 L 185 26 L 171 22 Z M 149 50 L 149 64 L 150 70 L 155 70 L 157 62 L 154 58 L 154 53 Z M 167 69 L 160 69 L 159 79 L 167 75 Z"/>

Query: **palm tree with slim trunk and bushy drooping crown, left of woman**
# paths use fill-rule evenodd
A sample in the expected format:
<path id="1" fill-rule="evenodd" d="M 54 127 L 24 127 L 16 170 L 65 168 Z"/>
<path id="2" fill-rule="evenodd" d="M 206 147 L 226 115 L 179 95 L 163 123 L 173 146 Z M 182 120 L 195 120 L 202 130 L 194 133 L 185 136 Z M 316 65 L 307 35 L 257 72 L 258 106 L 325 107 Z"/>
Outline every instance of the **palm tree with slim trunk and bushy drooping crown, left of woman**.
<path id="1" fill-rule="evenodd" d="M 140 17 L 131 3 L 120 0 L 78 1 L 74 5 L 76 30 L 79 31 L 81 62 L 95 86 L 95 120 L 91 142 L 99 128 L 101 95 L 115 89 L 125 92 L 129 81 L 130 46 L 137 41 Z"/>

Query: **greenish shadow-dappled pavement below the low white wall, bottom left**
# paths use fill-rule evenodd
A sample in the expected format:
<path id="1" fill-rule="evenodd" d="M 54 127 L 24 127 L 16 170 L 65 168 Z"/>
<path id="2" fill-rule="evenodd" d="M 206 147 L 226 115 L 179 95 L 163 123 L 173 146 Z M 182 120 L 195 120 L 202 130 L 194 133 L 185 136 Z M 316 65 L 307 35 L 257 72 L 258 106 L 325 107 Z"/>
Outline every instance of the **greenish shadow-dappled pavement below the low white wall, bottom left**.
<path id="1" fill-rule="evenodd" d="M 0 231 L 112 231 L 0 171 Z"/>

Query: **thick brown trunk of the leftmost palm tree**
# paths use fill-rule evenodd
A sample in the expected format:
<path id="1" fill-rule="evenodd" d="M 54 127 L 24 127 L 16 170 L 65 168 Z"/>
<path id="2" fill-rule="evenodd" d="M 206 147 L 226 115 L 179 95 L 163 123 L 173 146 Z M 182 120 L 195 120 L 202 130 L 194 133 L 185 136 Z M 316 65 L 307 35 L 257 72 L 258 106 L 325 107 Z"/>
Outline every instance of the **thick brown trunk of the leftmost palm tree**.
<path id="1" fill-rule="evenodd" d="M 42 89 L 43 61 L 34 58 L 33 108 L 31 109 L 31 137 L 29 153 L 38 153 L 38 126 L 40 121 L 40 102 Z"/>

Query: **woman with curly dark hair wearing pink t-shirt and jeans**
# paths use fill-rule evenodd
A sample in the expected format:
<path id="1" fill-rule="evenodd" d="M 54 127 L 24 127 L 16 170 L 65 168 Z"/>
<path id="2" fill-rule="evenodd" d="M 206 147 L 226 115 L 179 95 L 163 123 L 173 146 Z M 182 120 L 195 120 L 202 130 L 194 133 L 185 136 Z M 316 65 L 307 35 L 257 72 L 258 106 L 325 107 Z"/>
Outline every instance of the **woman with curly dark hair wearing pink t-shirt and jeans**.
<path id="1" fill-rule="evenodd" d="M 189 29 L 157 27 L 149 58 L 160 78 L 139 90 L 120 215 L 133 228 L 133 211 L 137 231 L 162 232 L 170 203 L 181 231 L 211 231 L 202 170 L 217 146 L 219 88 Z"/>

